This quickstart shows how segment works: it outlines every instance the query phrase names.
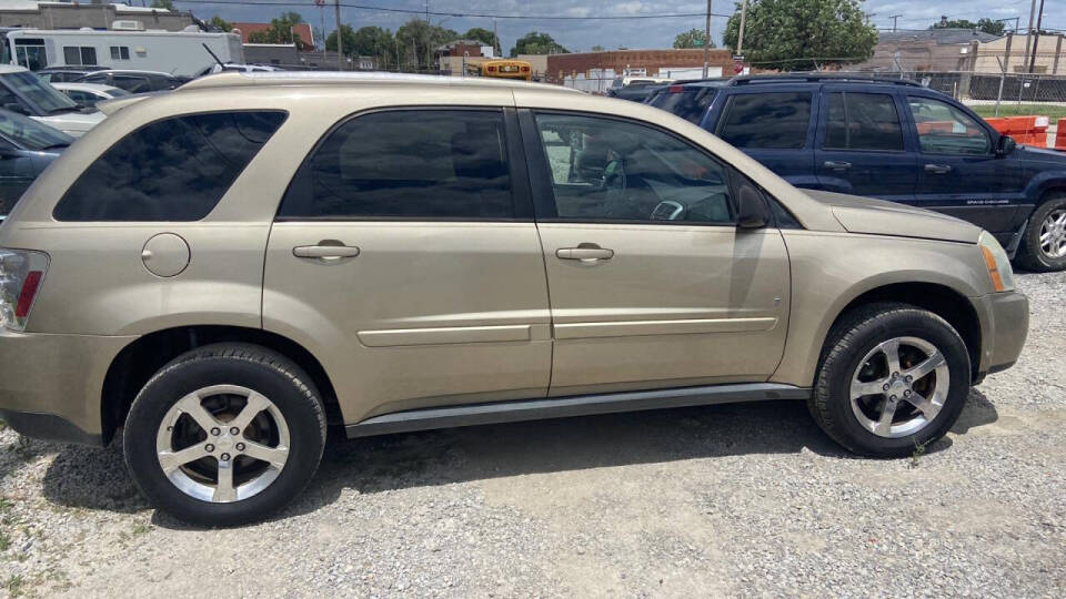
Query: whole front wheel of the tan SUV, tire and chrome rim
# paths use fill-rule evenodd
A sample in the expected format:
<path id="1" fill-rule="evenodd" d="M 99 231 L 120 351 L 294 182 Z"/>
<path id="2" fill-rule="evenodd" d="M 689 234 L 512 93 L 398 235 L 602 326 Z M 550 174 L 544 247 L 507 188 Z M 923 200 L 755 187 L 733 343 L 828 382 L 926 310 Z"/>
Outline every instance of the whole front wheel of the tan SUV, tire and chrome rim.
<path id="1" fill-rule="evenodd" d="M 943 437 L 969 393 L 969 354 L 939 316 L 876 304 L 834 327 L 811 413 L 857 454 L 904 457 Z"/>

